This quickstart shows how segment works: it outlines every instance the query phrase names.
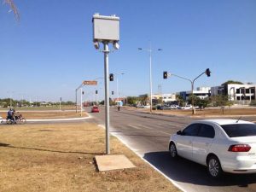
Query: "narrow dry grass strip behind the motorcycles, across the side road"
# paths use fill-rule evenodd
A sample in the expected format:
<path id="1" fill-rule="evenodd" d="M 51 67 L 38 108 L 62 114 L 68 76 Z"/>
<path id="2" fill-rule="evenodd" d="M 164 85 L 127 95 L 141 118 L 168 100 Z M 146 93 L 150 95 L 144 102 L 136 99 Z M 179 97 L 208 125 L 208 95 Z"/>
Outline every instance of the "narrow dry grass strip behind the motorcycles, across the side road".
<path id="1" fill-rule="evenodd" d="M 26 119 L 65 119 L 65 118 L 78 118 L 81 117 L 80 113 L 76 113 L 75 111 L 33 111 L 33 112 L 20 112 L 22 116 Z M 7 113 L 0 112 L 0 116 L 3 119 L 6 118 Z M 83 112 L 82 117 L 86 117 L 87 113 Z"/>

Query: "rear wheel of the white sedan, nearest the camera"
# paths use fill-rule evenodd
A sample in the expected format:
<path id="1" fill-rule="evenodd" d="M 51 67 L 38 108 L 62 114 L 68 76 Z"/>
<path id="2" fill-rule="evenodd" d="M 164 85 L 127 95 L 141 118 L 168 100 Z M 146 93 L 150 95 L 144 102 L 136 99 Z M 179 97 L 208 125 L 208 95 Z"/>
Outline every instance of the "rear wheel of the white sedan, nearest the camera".
<path id="1" fill-rule="evenodd" d="M 218 158 L 215 155 L 211 155 L 207 160 L 207 171 L 213 178 L 218 178 L 222 175 L 222 168 Z"/>

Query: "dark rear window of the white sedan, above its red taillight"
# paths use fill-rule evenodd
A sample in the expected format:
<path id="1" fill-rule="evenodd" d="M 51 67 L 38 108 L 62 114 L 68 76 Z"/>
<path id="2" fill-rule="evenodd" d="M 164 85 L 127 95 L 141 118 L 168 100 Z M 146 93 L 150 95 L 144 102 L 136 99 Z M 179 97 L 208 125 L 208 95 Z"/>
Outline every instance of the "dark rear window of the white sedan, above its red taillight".
<path id="1" fill-rule="evenodd" d="M 255 124 L 232 124 L 221 125 L 229 137 L 250 137 L 256 136 Z"/>

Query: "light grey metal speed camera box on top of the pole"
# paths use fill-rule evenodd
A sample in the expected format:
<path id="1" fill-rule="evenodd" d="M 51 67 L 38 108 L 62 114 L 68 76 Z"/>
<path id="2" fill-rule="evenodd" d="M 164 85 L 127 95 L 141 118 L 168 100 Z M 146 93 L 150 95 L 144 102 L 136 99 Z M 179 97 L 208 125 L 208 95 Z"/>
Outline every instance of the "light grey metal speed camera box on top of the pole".
<path id="1" fill-rule="evenodd" d="M 93 15 L 92 23 L 94 42 L 119 41 L 119 17 Z"/>

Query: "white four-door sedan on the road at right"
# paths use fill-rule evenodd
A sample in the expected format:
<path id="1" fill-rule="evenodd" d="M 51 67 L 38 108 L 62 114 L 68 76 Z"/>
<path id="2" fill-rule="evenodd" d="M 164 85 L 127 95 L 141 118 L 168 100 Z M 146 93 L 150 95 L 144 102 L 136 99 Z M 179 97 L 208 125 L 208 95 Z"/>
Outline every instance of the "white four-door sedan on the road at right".
<path id="1" fill-rule="evenodd" d="M 222 172 L 256 173 L 256 125 L 235 119 L 197 120 L 170 138 L 172 158 L 181 156 Z"/>

